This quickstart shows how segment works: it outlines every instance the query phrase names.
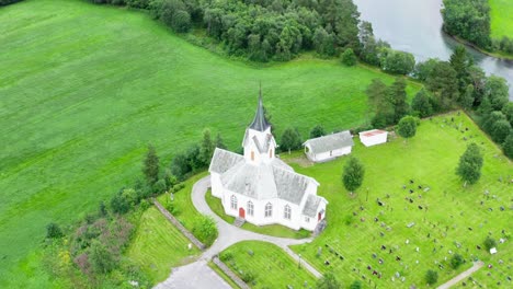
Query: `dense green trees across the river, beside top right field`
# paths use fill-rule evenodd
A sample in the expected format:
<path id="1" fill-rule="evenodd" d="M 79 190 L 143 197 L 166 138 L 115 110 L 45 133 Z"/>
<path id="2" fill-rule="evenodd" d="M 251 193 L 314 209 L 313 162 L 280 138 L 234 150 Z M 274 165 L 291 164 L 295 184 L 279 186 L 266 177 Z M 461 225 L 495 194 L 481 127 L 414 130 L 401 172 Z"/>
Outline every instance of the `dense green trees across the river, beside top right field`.
<path id="1" fill-rule="evenodd" d="M 488 0 L 444 0 L 444 31 L 487 50 L 513 54 L 513 39 L 491 39 Z"/>

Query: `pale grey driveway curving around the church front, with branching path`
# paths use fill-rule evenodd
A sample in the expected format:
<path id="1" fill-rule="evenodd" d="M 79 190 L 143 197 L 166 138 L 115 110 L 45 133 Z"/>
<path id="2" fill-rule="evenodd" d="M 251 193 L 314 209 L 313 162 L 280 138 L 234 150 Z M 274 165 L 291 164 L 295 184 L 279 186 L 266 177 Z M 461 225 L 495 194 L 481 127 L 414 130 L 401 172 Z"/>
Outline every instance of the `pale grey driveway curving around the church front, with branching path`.
<path id="1" fill-rule="evenodd" d="M 255 240 L 273 243 L 282 247 L 288 253 L 296 262 L 299 262 L 299 256 L 294 253 L 288 246 L 297 245 L 311 242 L 311 238 L 308 239 L 288 239 L 277 238 L 271 235 L 259 234 L 250 232 L 240 228 L 237 228 L 230 223 L 227 223 L 208 207 L 205 200 L 205 194 L 210 186 L 210 176 L 205 176 L 197 181 L 192 188 L 192 201 L 194 207 L 203 215 L 214 218 L 217 224 L 219 235 L 214 244 L 207 248 L 198 261 L 195 263 L 174 268 L 170 277 L 159 284 L 157 288 L 203 288 L 207 285 L 207 288 L 230 288 L 220 277 L 210 276 L 214 273 L 208 266 L 207 262 L 216 254 L 219 254 L 225 248 L 238 243 L 240 241 Z M 307 268 L 317 278 L 321 277 L 321 274 L 311 267 L 308 263 L 303 262 L 305 268 Z M 201 275 L 201 276 L 198 276 Z M 216 278 L 217 277 L 217 278 Z"/>

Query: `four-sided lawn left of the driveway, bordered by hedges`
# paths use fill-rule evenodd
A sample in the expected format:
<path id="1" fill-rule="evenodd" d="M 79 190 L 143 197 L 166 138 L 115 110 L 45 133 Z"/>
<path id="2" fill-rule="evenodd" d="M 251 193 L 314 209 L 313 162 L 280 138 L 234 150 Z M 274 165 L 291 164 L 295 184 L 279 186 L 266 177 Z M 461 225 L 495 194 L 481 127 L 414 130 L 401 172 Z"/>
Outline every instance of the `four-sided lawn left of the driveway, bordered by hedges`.
<path id="1" fill-rule="evenodd" d="M 195 246 L 187 250 L 190 241 L 155 207 L 140 218 L 139 227 L 126 252 L 148 274 L 153 282 L 164 280 L 171 267 L 193 262 L 200 253 Z"/>

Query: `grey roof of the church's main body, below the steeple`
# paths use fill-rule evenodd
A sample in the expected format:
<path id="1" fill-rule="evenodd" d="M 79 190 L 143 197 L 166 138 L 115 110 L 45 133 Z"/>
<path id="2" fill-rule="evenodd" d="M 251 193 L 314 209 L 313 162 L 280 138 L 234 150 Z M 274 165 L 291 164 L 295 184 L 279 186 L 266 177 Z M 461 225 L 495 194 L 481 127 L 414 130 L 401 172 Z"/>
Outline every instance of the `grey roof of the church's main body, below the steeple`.
<path id="1" fill-rule="evenodd" d="M 281 198 L 299 205 L 308 184 L 319 185 L 314 178 L 295 173 L 280 159 L 255 164 L 244 161 L 242 155 L 238 159 L 232 154 L 236 153 L 216 149 L 209 170 L 219 173 L 223 185 L 231 192 L 254 199 Z"/>

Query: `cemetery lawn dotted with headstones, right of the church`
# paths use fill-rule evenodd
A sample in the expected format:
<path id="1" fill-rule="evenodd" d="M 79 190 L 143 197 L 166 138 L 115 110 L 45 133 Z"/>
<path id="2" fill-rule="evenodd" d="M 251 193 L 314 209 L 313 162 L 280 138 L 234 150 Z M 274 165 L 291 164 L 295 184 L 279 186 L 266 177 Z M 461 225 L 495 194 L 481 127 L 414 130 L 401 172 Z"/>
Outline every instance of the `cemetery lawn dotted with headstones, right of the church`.
<path id="1" fill-rule="evenodd" d="M 442 284 L 478 258 L 494 266 L 491 276 L 488 269 L 477 275 L 480 284 L 493 287 L 501 281 L 511 288 L 506 279 L 513 276 L 511 161 L 464 114 L 422 120 L 418 129 L 408 142 L 397 138 L 371 148 L 355 138 L 352 154 L 361 159 L 366 172 L 354 196 L 341 182 L 347 158 L 314 166 L 294 164 L 297 172 L 320 183 L 318 192 L 329 205 L 326 231 L 293 250 L 319 270 L 332 269 L 345 285 L 361 279 L 368 287 L 423 288 L 428 269 L 438 271 Z M 480 181 L 463 187 L 455 169 L 470 141 L 482 149 L 485 165 Z M 283 158 L 294 162 L 303 155 Z M 487 235 L 498 243 L 506 239 L 498 245 L 497 255 L 483 248 Z M 457 271 L 449 266 L 455 253 L 467 261 Z"/>

